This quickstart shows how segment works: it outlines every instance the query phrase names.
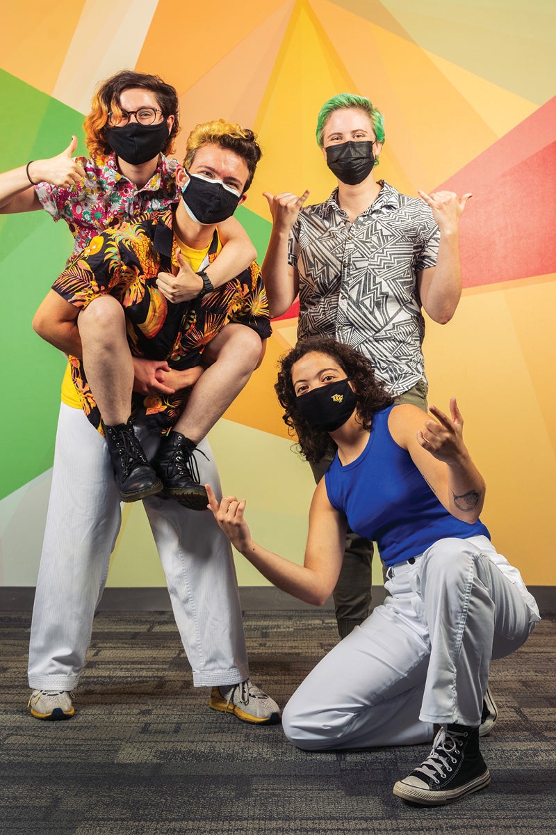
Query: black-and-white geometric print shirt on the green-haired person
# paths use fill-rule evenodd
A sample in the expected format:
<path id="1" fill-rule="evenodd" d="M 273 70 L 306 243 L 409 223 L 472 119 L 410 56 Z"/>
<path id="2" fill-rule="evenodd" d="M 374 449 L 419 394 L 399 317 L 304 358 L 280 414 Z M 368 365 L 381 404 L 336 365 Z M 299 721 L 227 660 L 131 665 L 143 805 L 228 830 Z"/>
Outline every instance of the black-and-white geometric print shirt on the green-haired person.
<path id="1" fill-rule="evenodd" d="M 378 197 L 353 223 L 338 205 L 338 189 L 303 208 L 288 263 L 299 275 L 298 339 L 347 343 L 399 395 L 426 382 L 417 274 L 436 264 L 440 231 L 424 200 L 378 182 Z"/>

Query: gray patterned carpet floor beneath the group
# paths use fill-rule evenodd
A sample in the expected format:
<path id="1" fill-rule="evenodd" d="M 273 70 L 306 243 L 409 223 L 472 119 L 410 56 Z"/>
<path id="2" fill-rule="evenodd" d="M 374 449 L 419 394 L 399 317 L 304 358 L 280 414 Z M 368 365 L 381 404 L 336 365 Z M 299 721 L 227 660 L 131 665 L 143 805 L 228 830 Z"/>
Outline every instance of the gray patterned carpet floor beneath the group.
<path id="1" fill-rule="evenodd" d="M 2 835 L 409 835 L 556 832 L 556 619 L 493 663 L 500 718 L 483 740 L 491 785 L 448 807 L 393 783 L 427 746 L 298 751 L 280 726 L 208 708 L 168 612 L 101 612 L 76 715 L 33 719 L 29 614 L 0 618 Z M 329 611 L 248 612 L 252 679 L 283 705 L 336 642 Z"/>

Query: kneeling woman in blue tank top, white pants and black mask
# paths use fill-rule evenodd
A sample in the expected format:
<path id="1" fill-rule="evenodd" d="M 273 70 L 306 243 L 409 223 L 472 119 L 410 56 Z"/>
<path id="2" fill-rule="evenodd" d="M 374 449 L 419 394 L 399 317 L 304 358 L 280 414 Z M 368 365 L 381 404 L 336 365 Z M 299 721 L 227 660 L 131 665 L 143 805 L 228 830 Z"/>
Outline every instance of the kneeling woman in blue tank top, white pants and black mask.
<path id="1" fill-rule="evenodd" d="M 309 514 L 303 566 L 253 541 L 245 500 L 210 508 L 229 539 L 280 589 L 313 605 L 338 579 L 347 525 L 378 542 L 388 595 L 309 673 L 283 711 L 308 751 L 416 745 L 423 762 L 396 782 L 405 800 L 437 806 L 488 785 L 479 750 L 491 658 L 540 620 L 517 569 L 479 519 L 484 481 L 449 416 L 396 405 L 366 357 L 327 337 L 299 342 L 276 384 L 284 421 L 309 461 L 336 448 Z"/>

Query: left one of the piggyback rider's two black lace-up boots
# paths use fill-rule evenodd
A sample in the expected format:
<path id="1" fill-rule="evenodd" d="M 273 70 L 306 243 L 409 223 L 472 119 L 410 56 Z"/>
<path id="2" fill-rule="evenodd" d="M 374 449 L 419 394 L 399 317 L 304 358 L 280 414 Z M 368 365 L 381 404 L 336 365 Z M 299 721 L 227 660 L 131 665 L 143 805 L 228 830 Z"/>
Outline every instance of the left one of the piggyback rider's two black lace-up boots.
<path id="1" fill-rule="evenodd" d="M 137 502 L 140 498 L 160 493 L 162 482 L 145 458 L 143 448 L 135 437 L 131 417 L 128 423 L 118 423 L 118 426 L 105 424 L 104 431 L 122 501 Z"/>

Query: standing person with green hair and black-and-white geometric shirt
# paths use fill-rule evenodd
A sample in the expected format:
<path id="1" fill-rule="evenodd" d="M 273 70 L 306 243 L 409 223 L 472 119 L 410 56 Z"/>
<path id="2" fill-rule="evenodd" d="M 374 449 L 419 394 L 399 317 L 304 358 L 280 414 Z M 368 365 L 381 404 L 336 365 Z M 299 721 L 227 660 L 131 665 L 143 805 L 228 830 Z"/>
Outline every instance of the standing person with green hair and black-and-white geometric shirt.
<path id="1" fill-rule="evenodd" d="M 298 339 L 334 337 L 367 357 L 396 402 L 427 410 L 423 310 L 448 322 L 461 294 L 458 222 L 469 194 L 400 194 L 374 170 L 383 115 L 363 96 L 323 104 L 317 142 L 337 185 L 324 203 L 265 193 L 273 230 L 263 261 L 272 317 L 299 296 Z M 313 463 L 318 482 L 332 458 Z M 368 617 L 373 544 L 348 533 L 334 590 L 343 638 Z"/>

